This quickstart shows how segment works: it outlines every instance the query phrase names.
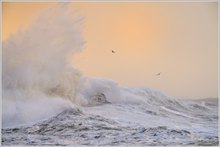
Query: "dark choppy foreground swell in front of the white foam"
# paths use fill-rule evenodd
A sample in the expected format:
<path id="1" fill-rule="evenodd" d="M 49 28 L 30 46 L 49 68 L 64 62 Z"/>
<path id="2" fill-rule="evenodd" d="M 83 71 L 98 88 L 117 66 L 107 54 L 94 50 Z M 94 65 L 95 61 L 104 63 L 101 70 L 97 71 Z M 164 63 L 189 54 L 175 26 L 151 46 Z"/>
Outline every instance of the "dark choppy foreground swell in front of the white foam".
<path id="1" fill-rule="evenodd" d="M 114 106 L 113 106 L 114 105 Z M 120 105 L 112 106 L 112 110 L 116 111 Z M 128 105 L 124 108 L 128 108 Z M 131 105 L 132 106 L 132 105 Z M 85 107 L 88 108 L 88 107 Z M 98 108 L 98 107 L 92 107 Z M 103 107 L 102 107 L 103 108 Z M 132 107 L 130 107 L 132 108 Z M 139 107 L 136 107 L 139 108 Z M 89 109 L 89 108 L 88 108 Z M 121 115 L 121 118 L 128 117 L 135 119 L 140 123 L 140 118 L 136 119 L 132 109 L 127 114 L 121 114 L 121 109 L 116 111 L 116 115 Z M 91 110 L 89 110 L 91 112 Z M 140 117 L 138 110 L 137 115 Z M 151 115 L 145 115 L 144 125 L 127 123 L 124 125 L 122 119 L 120 121 L 109 117 L 111 111 L 106 111 L 107 115 L 86 115 L 80 111 L 68 109 L 51 117 L 48 120 L 36 123 L 30 127 L 8 128 L 3 129 L 3 145 L 218 145 L 217 132 L 210 134 L 207 132 L 201 133 L 203 126 L 198 131 L 195 127 L 174 127 L 176 122 L 160 121 L 161 118 L 152 119 Z M 133 115 L 133 116 L 132 116 Z M 108 116 L 108 117 L 106 117 Z M 149 120 L 150 119 L 150 120 Z M 127 120 L 127 119 L 126 119 Z M 156 121 L 155 121 L 156 120 Z M 186 120 L 186 119 L 184 119 Z M 180 121 L 184 121 L 180 120 Z M 146 123 L 147 121 L 147 123 Z M 154 125 L 149 125 L 149 123 Z M 158 123 L 159 122 L 159 123 Z M 157 125 L 155 125 L 157 123 Z M 176 124 L 175 124 L 176 123 Z M 194 124 L 195 125 L 195 124 Z M 216 129 L 213 126 L 214 130 Z M 211 129 L 209 129 L 211 130 Z"/>

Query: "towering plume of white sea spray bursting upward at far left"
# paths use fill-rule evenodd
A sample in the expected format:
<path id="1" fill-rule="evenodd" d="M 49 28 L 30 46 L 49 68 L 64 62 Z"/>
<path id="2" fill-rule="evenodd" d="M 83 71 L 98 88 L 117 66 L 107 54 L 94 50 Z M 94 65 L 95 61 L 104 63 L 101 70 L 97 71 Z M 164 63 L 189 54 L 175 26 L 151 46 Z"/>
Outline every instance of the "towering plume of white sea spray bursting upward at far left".
<path id="1" fill-rule="evenodd" d="M 68 5 L 49 7 L 3 42 L 3 127 L 73 107 L 81 73 L 68 61 L 85 41 L 82 17 L 71 15 Z"/>

